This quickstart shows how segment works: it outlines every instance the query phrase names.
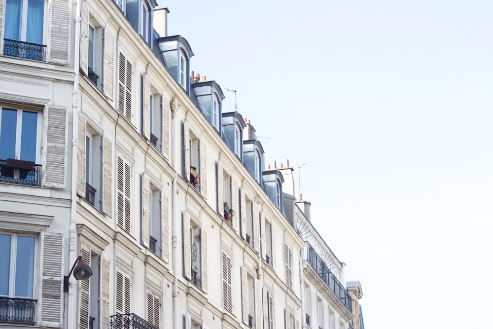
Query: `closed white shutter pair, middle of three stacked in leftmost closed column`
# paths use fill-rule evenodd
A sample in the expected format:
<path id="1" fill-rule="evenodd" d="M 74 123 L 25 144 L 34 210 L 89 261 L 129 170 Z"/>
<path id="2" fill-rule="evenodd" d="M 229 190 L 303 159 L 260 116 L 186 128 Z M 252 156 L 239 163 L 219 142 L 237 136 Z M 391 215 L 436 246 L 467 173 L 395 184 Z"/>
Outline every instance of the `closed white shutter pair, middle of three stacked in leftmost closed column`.
<path id="1" fill-rule="evenodd" d="M 130 166 L 119 156 L 117 160 L 118 226 L 130 234 Z"/>

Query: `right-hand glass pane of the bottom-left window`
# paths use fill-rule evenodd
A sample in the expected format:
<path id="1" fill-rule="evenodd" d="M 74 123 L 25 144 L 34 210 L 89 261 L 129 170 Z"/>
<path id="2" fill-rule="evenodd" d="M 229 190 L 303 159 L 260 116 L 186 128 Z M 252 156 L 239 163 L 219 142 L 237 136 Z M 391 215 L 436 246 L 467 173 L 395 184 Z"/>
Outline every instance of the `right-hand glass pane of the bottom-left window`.
<path id="1" fill-rule="evenodd" d="M 17 237 L 17 256 L 15 259 L 16 297 L 33 297 L 34 244 L 34 236 Z"/>

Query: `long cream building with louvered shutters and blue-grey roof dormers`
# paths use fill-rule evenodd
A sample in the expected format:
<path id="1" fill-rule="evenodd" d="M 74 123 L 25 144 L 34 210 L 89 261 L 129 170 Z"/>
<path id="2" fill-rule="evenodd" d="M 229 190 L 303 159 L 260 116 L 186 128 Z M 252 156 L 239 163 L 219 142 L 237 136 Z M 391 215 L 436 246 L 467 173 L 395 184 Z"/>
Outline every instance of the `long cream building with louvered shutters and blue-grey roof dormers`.
<path id="1" fill-rule="evenodd" d="M 306 322 L 307 219 L 156 5 L 0 0 L 0 329 Z"/>

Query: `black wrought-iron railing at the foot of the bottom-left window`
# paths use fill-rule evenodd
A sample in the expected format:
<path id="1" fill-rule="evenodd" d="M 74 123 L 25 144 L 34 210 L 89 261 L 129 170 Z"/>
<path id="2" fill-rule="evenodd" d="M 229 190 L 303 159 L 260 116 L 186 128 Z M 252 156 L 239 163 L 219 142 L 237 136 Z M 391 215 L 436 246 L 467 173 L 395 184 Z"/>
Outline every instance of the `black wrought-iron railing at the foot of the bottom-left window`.
<path id="1" fill-rule="evenodd" d="M 36 299 L 0 297 L 0 322 L 35 323 Z"/>

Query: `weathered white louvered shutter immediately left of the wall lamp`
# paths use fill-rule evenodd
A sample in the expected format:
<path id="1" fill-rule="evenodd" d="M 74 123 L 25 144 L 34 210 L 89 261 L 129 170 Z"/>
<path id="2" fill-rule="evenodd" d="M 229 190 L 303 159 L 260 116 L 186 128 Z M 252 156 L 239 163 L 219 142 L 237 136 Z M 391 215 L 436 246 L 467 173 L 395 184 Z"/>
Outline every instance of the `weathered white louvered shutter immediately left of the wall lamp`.
<path id="1" fill-rule="evenodd" d="M 62 327 L 64 309 L 64 236 L 60 233 L 41 232 L 41 264 L 38 293 L 38 325 Z M 74 280 L 73 278 L 70 280 Z"/>

